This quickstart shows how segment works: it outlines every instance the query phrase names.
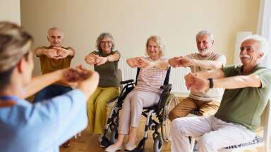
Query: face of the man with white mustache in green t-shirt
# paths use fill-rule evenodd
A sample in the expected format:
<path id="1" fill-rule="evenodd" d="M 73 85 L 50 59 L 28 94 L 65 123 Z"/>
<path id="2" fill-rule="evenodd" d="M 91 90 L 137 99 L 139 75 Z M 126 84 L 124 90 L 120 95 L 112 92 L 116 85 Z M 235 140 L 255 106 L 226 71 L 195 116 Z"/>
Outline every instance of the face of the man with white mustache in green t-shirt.
<path id="1" fill-rule="evenodd" d="M 243 65 L 255 66 L 263 57 L 263 52 L 260 51 L 260 43 L 254 39 L 247 39 L 240 47 L 240 60 Z"/>

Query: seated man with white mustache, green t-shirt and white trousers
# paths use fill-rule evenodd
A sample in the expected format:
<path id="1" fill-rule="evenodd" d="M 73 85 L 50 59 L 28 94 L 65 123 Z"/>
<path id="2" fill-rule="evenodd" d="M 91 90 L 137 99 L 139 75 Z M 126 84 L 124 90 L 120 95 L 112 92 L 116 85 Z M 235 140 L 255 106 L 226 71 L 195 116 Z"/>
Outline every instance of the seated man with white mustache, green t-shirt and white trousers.
<path id="1" fill-rule="evenodd" d="M 188 89 L 225 91 L 215 115 L 177 118 L 172 122 L 172 151 L 191 151 L 188 137 L 201 136 L 199 152 L 215 152 L 255 138 L 254 131 L 260 125 L 270 94 L 271 71 L 260 65 L 266 51 L 269 51 L 266 39 L 252 35 L 241 43 L 242 65 L 185 76 Z"/>

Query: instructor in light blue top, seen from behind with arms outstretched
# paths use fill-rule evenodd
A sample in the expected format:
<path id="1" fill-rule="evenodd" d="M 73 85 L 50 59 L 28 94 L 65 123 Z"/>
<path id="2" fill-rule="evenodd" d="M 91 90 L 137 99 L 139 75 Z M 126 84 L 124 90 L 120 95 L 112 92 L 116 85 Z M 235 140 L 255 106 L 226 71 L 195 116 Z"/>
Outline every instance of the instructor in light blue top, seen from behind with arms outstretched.
<path id="1" fill-rule="evenodd" d="M 23 28 L 0 22 L 0 151 L 59 151 L 88 124 L 86 99 L 97 88 L 97 72 L 67 68 L 31 79 L 31 45 Z M 39 103 L 25 100 L 60 80 L 76 89 Z"/>

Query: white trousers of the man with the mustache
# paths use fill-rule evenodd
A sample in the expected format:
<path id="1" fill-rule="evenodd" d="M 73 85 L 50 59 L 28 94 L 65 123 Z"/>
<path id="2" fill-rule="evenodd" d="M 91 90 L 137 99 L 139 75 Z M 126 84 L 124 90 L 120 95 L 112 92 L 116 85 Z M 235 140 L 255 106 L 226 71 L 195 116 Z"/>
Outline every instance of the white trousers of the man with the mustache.
<path id="1" fill-rule="evenodd" d="M 199 152 L 215 152 L 220 148 L 252 141 L 255 132 L 242 125 L 224 122 L 214 115 L 177 118 L 171 126 L 171 151 L 190 152 L 188 137 L 200 137 Z"/>

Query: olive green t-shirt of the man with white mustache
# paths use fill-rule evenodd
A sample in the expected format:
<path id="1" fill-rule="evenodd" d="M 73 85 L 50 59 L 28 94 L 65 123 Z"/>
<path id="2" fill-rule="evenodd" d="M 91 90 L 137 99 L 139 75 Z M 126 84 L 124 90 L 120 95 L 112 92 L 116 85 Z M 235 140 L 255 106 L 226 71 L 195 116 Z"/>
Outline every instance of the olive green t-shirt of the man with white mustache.
<path id="1" fill-rule="evenodd" d="M 222 68 L 225 77 L 242 75 L 243 66 Z M 249 75 L 258 75 L 261 87 L 225 89 L 216 118 L 233 122 L 254 130 L 260 126 L 260 116 L 265 109 L 270 93 L 271 71 L 260 65 L 255 66 Z"/>

